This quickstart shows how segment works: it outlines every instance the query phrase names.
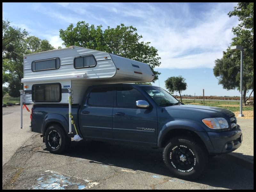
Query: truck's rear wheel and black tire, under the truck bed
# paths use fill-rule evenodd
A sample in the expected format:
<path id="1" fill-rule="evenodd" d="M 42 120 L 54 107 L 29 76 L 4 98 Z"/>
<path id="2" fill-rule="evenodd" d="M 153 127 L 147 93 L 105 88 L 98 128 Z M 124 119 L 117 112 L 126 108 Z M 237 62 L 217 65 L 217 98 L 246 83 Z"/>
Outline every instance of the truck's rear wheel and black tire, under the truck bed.
<path id="1" fill-rule="evenodd" d="M 60 154 L 68 148 L 71 138 L 58 124 L 53 124 L 45 132 L 45 145 L 51 153 Z"/>

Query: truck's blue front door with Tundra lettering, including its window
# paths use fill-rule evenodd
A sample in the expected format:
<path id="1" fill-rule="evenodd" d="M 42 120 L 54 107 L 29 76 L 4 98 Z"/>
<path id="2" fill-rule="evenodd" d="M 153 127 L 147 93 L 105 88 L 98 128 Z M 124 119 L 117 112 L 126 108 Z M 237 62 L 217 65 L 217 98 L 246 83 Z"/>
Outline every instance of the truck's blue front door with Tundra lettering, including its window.
<path id="1" fill-rule="evenodd" d="M 113 140 L 119 143 L 156 146 L 156 108 L 139 108 L 137 100 L 145 96 L 133 87 L 117 87 L 113 108 Z"/>

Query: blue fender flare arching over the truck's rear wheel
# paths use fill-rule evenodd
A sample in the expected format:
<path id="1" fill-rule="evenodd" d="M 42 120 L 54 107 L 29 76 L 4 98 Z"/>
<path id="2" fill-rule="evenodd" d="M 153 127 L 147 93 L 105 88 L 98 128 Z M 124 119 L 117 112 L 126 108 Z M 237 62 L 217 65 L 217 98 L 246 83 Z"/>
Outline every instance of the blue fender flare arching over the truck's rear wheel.
<path id="1" fill-rule="evenodd" d="M 42 128 L 41 131 L 44 134 L 45 130 L 46 130 L 46 126 L 47 124 L 51 123 L 51 122 L 58 122 L 62 125 L 62 127 L 64 128 L 64 130 L 66 131 L 66 133 L 69 132 L 69 125 L 68 125 L 68 121 L 67 119 L 59 114 L 50 114 L 45 116 L 43 124 L 42 124 Z"/>

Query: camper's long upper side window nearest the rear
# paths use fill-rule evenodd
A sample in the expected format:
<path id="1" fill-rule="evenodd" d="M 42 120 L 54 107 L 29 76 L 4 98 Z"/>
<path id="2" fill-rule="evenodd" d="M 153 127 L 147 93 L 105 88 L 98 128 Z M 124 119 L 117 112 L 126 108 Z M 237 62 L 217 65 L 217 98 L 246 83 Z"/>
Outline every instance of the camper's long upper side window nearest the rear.
<path id="1" fill-rule="evenodd" d="M 31 69 L 33 72 L 58 69 L 60 68 L 60 58 L 37 60 L 33 61 L 31 65 Z"/>

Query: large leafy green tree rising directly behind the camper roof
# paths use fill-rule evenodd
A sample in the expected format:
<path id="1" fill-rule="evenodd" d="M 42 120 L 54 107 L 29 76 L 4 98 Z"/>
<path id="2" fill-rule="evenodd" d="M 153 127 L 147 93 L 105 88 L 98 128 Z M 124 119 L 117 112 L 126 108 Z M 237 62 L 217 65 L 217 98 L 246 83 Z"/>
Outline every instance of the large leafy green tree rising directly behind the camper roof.
<path id="1" fill-rule="evenodd" d="M 148 63 L 155 75 L 153 82 L 158 79 L 160 73 L 154 71 L 154 68 L 161 64 L 161 58 L 158 57 L 157 49 L 149 46 L 150 42 L 140 42 L 142 36 L 138 35 L 136 28 L 124 24 L 116 28 L 108 26 L 104 31 L 101 28 L 102 25 L 95 28 L 85 21 L 79 21 L 76 27 L 70 24 L 66 30 L 60 29 L 60 38 L 66 47 L 81 46 Z"/>

